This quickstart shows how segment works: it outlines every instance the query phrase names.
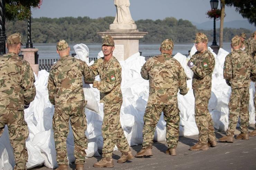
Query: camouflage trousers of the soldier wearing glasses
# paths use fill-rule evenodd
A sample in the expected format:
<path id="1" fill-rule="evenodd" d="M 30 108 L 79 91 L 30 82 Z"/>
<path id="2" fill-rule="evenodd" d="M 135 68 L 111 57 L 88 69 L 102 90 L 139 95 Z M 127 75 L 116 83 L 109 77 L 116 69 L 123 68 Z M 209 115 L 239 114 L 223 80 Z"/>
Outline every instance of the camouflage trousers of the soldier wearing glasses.
<path id="1" fill-rule="evenodd" d="M 195 123 L 199 131 L 198 143 L 207 145 L 208 141 L 216 140 L 213 121 L 208 110 L 211 89 L 193 89 L 195 97 Z"/>

